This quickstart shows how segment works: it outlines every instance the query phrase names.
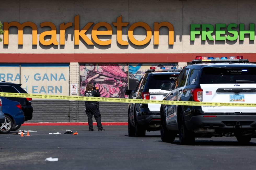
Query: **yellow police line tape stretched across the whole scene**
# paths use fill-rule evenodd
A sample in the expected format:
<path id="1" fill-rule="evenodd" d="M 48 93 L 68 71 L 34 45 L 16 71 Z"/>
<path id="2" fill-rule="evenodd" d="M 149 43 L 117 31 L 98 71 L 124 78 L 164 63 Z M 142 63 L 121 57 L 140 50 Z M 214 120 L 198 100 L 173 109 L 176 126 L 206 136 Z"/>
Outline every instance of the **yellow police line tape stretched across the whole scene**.
<path id="1" fill-rule="evenodd" d="M 117 103 L 143 103 L 143 104 L 166 104 L 166 105 L 188 105 L 188 106 L 243 106 L 256 107 L 256 103 L 213 103 L 213 102 L 185 102 L 170 100 L 143 100 L 143 99 L 123 99 L 123 98 L 104 98 L 104 97 L 83 97 L 83 96 L 61 96 L 61 95 L 40 95 L 27 93 L 4 93 L 0 92 L 2 97 L 22 97 L 39 99 L 60 99 L 60 100 L 80 100 L 95 102 L 117 102 Z"/>

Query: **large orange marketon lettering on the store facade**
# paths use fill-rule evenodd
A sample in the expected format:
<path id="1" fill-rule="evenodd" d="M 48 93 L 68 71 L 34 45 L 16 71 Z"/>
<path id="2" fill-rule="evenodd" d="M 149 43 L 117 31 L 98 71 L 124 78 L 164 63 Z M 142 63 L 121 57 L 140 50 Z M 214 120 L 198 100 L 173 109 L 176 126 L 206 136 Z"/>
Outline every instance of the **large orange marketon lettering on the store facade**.
<path id="1" fill-rule="evenodd" d="M 79 29 L 79 15 L 74 17 L 74 45 L 79 45 L 80 38 L 83 39 L 88 45 L 94 45 L 94 43 L 102 46 L 110 45 L 111 39 L 109 40 L 100 40 L 98 35 L 112 35 L 112 26 L 107 22 L 98 22 L 93 27 L 93 22 L 88 22 L 82 30 Z M 113 26 L 117 27 L 117 42 L 120 45 L 128 45 L 128 41 L 124 41 L 122 39 L 122 27 L 126 27 L 129 22 L 122 22 L 122 16 L 117 17 L 117 22 L 112 22 Z M 56 26 L 52 22 L 43 22 L 40 24 L 40 27 L 50 27 L 50 31 L 42 32 L 39 35 L 39 42 L 42 45 L 49 46 L 49 45 L 65 45 L 65 31 L 67 28 L 72 27 L 73 23 L 62 23 L 60 24 L 60 40 L 57 40 L 57 32 Z M 169 29 L 169 45 L 173 45 L 174 43 L 174 28 L 173 25 L 169 22 L 154 22 L 154 45 L 159 45 L 159 29 L 161 27 L 167 27 Z M 23 45 L 23 29 L 24 27 L 31 27 L 32 28 L 32 45 L 37 45 L 37 26 L 33 22 L 24 22 L 20 24 L 19 22 L 4 22 L 4 45 L 9 44 L 9 28 L 10 27 L 17 27 L 18 28 L 18 45 Z M 91 31 L 91 39 L 94 41 L 92 42 L 89 37 L 86 35 L 87 30 L 92 27 Z M 99 31 L 98 28 L 105 27 L 106 31 Z M 133 30 L 137 27 L 143 27 L 146 30 L 146 38 L 142 41 L 136 40 L 133 36 Z M 50 40 L 45 40 L 45 36 L 51 36 Z M 150 26 L 145 22 L 136 22 L 133 23 L 128 30 L 128 39 L 134 45 L 142 46 L 147 44 L 152 37 L 152 30 Z"/>

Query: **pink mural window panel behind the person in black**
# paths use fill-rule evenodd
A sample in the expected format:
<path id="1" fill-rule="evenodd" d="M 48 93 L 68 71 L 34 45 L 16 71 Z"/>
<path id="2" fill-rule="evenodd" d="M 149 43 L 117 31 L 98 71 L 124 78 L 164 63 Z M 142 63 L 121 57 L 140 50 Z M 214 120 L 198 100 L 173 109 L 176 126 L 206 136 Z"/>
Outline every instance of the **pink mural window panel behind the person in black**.
<path id="1" fill-rule="evenodd" d="M 101 97 L 128 98 L 128 66 L 126 64 L 80 64 L 80 92 L 84 96 L 88 83 L 96 83 Z"/>

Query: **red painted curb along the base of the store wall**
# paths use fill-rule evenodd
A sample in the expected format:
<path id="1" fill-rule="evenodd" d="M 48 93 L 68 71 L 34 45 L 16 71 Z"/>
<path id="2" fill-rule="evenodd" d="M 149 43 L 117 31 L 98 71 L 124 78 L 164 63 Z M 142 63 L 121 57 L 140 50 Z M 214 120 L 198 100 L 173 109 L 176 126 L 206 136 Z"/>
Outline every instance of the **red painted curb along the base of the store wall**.
<path id="1" fill-rule="evenodd" d="M 105 126 L 123 126 L 128 125 L 128 122 L 102 122 L 102 125 Z M 61 122 L 61 123 L 24 123 L 22 126 L 88 126 L 88 122 Z M 97 123 L 93 123 L 93 125 L 97 125 Z"/>

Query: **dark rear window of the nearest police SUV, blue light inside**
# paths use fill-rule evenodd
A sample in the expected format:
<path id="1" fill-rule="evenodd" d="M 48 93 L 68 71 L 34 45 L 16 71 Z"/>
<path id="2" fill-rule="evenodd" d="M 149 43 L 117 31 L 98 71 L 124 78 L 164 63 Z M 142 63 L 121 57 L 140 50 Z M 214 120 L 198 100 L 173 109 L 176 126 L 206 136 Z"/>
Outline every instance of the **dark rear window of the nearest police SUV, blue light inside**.
<path id="1" fill-rule="evenodd" d="M 256 67 L 203 68 L 200 84 L 256 83 Z"/>

